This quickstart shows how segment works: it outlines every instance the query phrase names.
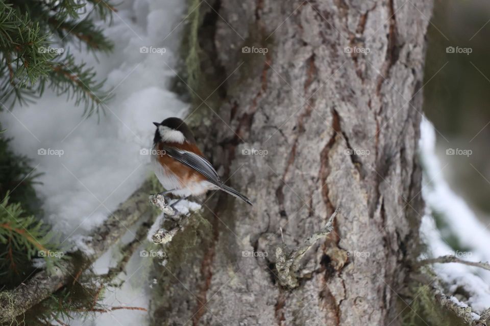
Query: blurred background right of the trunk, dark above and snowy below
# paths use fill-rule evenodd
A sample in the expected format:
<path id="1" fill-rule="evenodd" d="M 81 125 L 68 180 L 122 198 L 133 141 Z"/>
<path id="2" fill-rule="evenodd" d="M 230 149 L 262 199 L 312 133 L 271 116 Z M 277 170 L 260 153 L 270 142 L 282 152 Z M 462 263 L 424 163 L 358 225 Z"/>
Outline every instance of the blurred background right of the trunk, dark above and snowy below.
<path id="1" fill-rule="evenodd" d="M 424 80 L 431 123 L 422 123 L 420 142 L 422 232 L 432 257 L 490 261 L 489 14 L 485 0 L 434 4 Z M 452 294 L 470 296 L 467 303 L 479 312 L 488 308 L 490 271 L 458 263 L 434 267 Z"/>

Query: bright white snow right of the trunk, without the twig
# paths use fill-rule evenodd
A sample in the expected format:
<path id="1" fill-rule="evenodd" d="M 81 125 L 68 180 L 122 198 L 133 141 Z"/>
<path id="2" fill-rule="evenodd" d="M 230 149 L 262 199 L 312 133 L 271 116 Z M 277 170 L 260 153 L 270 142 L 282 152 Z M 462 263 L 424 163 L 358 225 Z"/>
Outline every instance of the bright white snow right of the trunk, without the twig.
<path id="1" fill-rule="evenodd" d="M 482 225 L 471 208 L 458 197 L 444 180 L 439 159 L 435 155 L 435 132 L 429 121 L 421 124 L 420 156 L 424 166 L 422 194 L 426 213 L 421 232 L 431 257 L 455 255 L 468 261 L 490 261 L 490 231 Z M 437 230 L 432 211 L 437 211 L 463 248 L 451 248 Z M 468 302 L 473 311 L 481 313 L 490 307 L 490 271 L 459 263 L 434 264 L 434 271 L 452 293 L 462 286 L 471 294 Z M 450 294 L 450 293 L 446 293 Z M 457 300 L 454 298 L 454 300 Z"/>

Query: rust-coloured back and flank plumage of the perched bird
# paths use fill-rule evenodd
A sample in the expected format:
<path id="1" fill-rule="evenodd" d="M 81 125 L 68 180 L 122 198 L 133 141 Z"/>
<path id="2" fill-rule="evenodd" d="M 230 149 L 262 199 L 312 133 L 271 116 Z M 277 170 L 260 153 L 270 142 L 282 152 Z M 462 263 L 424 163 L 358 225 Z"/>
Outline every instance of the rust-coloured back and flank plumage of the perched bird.
<path id="1" fill-rule="evenodd" d="M 168 155 L 164 155 L 163 147 L 174 147 L 203 156 L 203 153 L 197 146 L 195 146 L 194 144 L 189 144 L 187 142 L 184 142 L 184 144 L 159 143 L 158 150 L 160 150 L 161 154 L 159 154 L 158 156 L 158 161 L 164 168 L 170 170 L 173 174 L 175 174 L 179 178 L 182 187 L 185 187 L 185 185 L 188 184 L 189 182 L 201 182 L 206 180 L 206 177 L 204 177 L 201 173 L 183 165 L 181 162 L 171 158 Z"/>

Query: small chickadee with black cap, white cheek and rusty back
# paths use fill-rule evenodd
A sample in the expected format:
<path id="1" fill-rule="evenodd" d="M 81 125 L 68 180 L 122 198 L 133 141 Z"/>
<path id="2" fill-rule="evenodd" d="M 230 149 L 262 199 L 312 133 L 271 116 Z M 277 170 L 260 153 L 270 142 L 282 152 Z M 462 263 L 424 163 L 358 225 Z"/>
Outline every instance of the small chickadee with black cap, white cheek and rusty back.
<path id="1" fill-rule="evenodd" d="M 204 158 L 184 121 L 168 118 L 153 124 L 157 130 L 153 139 L 152 163 L 158 180 L 167 189 L 164 194 L 188 197 L 219 189 L 252 205 L 247 197 L 219 180 L 216 170 Z"/>

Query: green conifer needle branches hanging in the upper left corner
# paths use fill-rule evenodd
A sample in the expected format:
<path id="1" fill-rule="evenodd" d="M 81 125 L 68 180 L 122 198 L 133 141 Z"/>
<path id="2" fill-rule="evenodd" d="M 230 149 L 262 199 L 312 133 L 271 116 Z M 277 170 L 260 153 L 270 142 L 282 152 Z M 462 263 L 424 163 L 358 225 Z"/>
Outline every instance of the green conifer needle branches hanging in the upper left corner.
<path id="1" fill-rule="evenodd" d="M 0 0 L 0 102 L 26 104 L 48 87 L 83 104 L 84 114 L 99 113 L 110 92 L 67 46 L 111 51 L 93 18 L 110 21 L 113 11 L 104 0 Z"/>

